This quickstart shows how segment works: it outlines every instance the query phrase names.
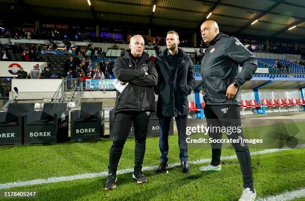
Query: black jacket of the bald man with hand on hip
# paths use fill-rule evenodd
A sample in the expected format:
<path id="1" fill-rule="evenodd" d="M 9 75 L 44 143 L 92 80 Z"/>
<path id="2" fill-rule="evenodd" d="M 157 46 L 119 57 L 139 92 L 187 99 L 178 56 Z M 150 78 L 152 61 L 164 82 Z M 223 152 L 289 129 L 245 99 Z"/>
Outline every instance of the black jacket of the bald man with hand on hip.
<path id="1" fill-rule="evenodd" d="M 206 104 L 241 105 L 241 88 L 231 100 L 226 97 L 227 88 L 235 82 L 242 86 L 251 80 L 257 69 L 257 59 L 237 38 L 219 33 L 205 50 L 201 66 Z M 238 66 L 243 67 L 240 73 Z"/>

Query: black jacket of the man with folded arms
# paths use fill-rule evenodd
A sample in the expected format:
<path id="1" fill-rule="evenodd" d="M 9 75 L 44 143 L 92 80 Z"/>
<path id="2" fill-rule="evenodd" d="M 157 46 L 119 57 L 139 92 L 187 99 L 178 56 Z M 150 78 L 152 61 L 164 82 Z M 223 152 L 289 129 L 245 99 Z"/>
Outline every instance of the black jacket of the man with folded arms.
<path id="1" fill-rule="evenodd" d="M 154 86 L 158 75 L 146 52 L 143 52 L 137 65 L 130 50 L 127 50 L 123 57 L 116 60 L 113 73 L 118 80 L 129 82 L 122 94 L 117 92 L 116 112 L 155 110 Z"/>

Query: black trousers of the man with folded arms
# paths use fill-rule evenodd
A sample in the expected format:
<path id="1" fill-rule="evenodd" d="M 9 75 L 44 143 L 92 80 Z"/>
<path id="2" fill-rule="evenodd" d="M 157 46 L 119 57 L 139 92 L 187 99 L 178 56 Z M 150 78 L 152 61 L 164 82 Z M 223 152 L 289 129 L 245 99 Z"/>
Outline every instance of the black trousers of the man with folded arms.
<path id="1" fill-rule="evenodd" d="M 115 174 L 122 155 L 124 144 L 130 133 L 132 124 L 135 128 L 135 171 L 142 170 L 142 164 L 146 149 L 146 136 L 150 122 L 149 111 L 122 111 L 116 114 L 114 137 L 109 154 L 109 174 Z"/>

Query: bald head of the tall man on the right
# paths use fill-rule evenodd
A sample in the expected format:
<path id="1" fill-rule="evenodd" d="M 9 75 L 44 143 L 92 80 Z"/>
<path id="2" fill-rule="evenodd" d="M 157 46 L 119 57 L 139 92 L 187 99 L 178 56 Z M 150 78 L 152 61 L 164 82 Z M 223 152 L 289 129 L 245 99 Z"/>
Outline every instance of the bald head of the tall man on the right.
<path id="1" fill-rule="evenodd" d="M 218 24 L 213 20 L 207 20 L 201 24 L 200 32 L 204 43 L 210 43 L 219 33 Z"/>

